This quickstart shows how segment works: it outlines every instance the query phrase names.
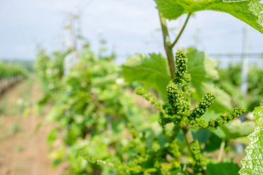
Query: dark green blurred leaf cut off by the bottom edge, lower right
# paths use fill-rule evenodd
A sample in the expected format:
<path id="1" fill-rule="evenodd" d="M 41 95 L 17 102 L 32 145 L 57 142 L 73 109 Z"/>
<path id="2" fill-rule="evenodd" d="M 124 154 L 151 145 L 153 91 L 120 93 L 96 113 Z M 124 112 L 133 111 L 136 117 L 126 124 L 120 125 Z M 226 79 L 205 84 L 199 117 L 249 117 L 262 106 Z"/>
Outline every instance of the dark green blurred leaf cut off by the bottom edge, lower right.
<path id="1" fill-rule="evenodd" d="M 235 163 L 208 164 L 208 175 L 238 175 L 239 166 Z"/>

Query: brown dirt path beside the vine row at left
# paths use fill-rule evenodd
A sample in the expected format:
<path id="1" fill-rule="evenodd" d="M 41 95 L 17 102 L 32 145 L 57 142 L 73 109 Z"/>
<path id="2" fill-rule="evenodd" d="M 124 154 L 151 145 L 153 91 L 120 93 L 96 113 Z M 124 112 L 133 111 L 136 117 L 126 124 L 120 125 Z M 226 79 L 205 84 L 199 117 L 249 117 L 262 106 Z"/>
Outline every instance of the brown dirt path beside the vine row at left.
<path id="1" fill-rule="evenodd" d="M 51 126 L 35 114 L 41 97 L 35 81 L 21 82 L 0 99 L 0 175 L 60 175 L 63 167 L 52 168 L 46 136 Z"/>

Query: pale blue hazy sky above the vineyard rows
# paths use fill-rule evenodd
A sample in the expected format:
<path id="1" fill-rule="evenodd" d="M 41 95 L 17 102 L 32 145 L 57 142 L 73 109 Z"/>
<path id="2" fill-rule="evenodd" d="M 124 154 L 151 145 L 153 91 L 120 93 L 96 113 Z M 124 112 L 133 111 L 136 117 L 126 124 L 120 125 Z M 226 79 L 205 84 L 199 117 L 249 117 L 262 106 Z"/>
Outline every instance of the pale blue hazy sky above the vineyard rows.
<path id="1" fill-rule="evenodd" d="M 35 59 L 36 46 L 48 52 L 62 47 L 69 12 L 81 17 L 82 35 L 98 50 L 99 34 L 124 62 L 134 53 L 163 53 L 158 12 L 153 0 L 0 0 L 0 59 Z M 184 19 L 185 17 L 183 17 Z M 170 21 L 174 37 L 183 19 Z M 234 17 L 195 13 L 182 35 L 183 47 L 206 53 L 241 53 L 242 31 L 248 30 L 248 52 L 263 53 L 263 35 Z"/>

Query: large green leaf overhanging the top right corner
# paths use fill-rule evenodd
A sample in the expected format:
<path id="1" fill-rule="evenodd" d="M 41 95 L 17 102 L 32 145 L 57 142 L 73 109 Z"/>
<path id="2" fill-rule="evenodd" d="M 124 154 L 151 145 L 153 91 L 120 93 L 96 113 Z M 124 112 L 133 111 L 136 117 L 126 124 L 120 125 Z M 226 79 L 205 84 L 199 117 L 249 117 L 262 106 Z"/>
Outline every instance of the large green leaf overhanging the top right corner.
<path id="1" fill-rule="evenodd" d="M 215 10 L 233 15 L 263 33 L 263 4 L 259 0 L 155 0 L 155 2 L 158 10 L 167 19 L 177 19 L 189 12 Z"/>

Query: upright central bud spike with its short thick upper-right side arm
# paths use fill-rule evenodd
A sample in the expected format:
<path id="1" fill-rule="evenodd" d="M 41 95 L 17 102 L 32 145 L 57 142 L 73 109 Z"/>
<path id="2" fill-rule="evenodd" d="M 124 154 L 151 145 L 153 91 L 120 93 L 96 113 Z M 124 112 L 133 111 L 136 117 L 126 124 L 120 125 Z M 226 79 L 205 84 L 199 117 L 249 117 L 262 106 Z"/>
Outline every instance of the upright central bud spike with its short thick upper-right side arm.
<path id="1" fill-rule="evenodd" d="M 190 90 L 188 84 L 191 80 L 187 67 L 188 58 L 183 50 L 176 53 L 175 60 L 175 78 L 173 82 L 167 85 L 167 99 L 169 103 L 163 105 L 167 116 L 161 116 L 160 123 L 165 125 L 168 122 L 174 122 L 175 125 L 194 123 L 194 120 L 203 116 L 207 109 L 215 100 L 215 94 L 210 92 L 203 96 L 197 107 L 190 110 Z M 186 120 L 184 120 L 186 119 Z"/>

